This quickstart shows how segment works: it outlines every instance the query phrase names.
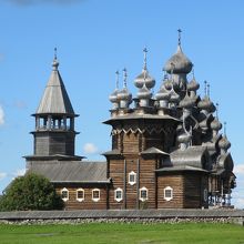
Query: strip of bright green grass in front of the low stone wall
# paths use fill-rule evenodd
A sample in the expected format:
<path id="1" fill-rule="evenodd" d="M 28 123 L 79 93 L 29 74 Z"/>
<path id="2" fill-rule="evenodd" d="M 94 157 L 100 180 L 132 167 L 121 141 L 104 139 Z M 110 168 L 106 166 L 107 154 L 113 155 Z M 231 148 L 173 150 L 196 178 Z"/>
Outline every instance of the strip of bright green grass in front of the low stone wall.
<path id="1" fill-rule="evenodd" d="M 63 243 L 242 243 L 244 227 L 234 224 L 0 225 L 1 244 Z"/>

